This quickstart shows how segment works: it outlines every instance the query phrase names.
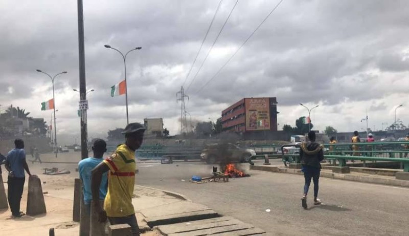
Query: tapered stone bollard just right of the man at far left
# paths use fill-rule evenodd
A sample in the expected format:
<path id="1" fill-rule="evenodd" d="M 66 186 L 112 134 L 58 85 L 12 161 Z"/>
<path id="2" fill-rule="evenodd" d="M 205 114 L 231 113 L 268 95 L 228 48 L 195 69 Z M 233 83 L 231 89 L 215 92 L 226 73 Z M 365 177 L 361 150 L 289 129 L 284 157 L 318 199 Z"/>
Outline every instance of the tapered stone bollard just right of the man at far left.
<path id="1" fill-rule="evenodd" d="M 27 214 L 35 216 L 47 213 L 46 202 L 42 194 L 41 180 L 37 176 L 29 177 L 29 194 L 27 197 Z"/>

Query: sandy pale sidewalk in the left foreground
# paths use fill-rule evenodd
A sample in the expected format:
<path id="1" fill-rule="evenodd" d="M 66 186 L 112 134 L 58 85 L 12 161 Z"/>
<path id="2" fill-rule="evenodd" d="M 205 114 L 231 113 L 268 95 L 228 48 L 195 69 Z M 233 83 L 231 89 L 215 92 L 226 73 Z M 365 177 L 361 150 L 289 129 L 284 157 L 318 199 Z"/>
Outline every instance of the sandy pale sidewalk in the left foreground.
<path id="1" fill-rule="evenodd" d="M 74 175 L 75 176 L 75 175 Z M 3 173 L 3 178 L 5 178 Z M 56 236 L 79 235 L 79 223 L 72 221 L 73 175 L 47 176 L 39 174 L 47 213 L 35 217 L 11 219 L 9 210 L 0 211 L 2 235 L 49 235 L 55 228 Z M 26 212 L 27 183 L 21 200 L 21 211 Z M 4 184 L 7 192 L 7 183 Z M 221 217 L 207 206 L 193 203 L 184 196 L 135 185 L 132 199 L 142 235 L 260 235 L 262 229 L 230 217 Z"/>

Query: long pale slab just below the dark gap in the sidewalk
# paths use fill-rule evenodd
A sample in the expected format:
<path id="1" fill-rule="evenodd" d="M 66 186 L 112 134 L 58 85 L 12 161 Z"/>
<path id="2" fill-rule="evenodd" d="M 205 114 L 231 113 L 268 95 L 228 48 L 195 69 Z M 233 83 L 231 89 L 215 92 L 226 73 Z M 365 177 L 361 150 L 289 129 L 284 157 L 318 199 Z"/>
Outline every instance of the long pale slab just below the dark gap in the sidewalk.
<path id="1" fill-rule="evenodd" d="M 201 230 L 201 229 L 211 229 L 211 228 L 237 225 L 237 224 L 243 224 L 243 222 L 239 220 L 230 220 L 230 221 L 210 222 L 210 223 L 195 224 L 195 225 L 184 223 L 184 225 L 177 224 L 177 226 L 162 225 L 162 226 L 158 226 L 157 228 L 163 234 L 168 235 L 172 233 L 183 233 L 183 232 L 196 231 L 196 230 Z"/>

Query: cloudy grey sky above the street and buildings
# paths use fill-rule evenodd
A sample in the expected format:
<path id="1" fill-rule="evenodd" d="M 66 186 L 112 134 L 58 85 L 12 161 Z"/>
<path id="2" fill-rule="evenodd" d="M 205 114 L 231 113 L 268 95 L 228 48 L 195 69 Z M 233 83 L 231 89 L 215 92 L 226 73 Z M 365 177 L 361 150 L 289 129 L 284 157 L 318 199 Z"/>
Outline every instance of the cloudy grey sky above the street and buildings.
<path id="1" fill-rule="evenodd" d="M 316 130 L 362 131 L 409 124 L 409 2 L 223 0 L 189 77 L 219 0 L 84 1 L 89 137 L 126 125 L 125 96 L 110 97 L 124 78 L 128 54 L 130 122 L 164 118 L 180 129 L 176 93 L 184 86 L 192 119 L 216 120 L 243 97 L 277 97 L 279 130 L 311 113 Z M 80 137 L 77 1 L 3 0 L 0 6 L 0 110 L 13 104 L 50 122 L 40 103 L 52 98 L 55 79 L 57 135 Z M 209 56 L 203 63 L 211 46 Z M 239 51 L 237 51 L 240 48 Z M 226 61 L 235 56 L 214 76 Z M 200 65 L 203 66 L 198 71 Z M 198 73 L 197 73 L 198 72 Z M 195 74 L 197 76 L 195 77 Z M 210 118 L 210 119 L 209 119 Z"/>

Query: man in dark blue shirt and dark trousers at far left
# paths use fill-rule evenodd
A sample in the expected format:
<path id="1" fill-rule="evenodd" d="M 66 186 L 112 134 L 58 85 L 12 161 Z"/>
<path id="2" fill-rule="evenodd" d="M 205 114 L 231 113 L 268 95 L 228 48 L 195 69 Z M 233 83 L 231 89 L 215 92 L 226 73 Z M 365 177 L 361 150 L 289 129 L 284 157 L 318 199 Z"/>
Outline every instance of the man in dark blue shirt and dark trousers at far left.
<path id="1" fill-rule="evenodd" d="M 24 151 L 24 141 L 21 139 L 14 140 L 15 148 L 12 149 L 6 157 L 6 169 L 9 171 L 8 176 L 8 190 L 7 199 L 13 217 L 19 218 L 25 215 L 20 211 L 20 201 L 22 196 L 22 190 L 24 188 L 24 182 L 26 181 L 27 174 L 31 176 L 29 166 L 26 162 L 26 152 Z"/>

